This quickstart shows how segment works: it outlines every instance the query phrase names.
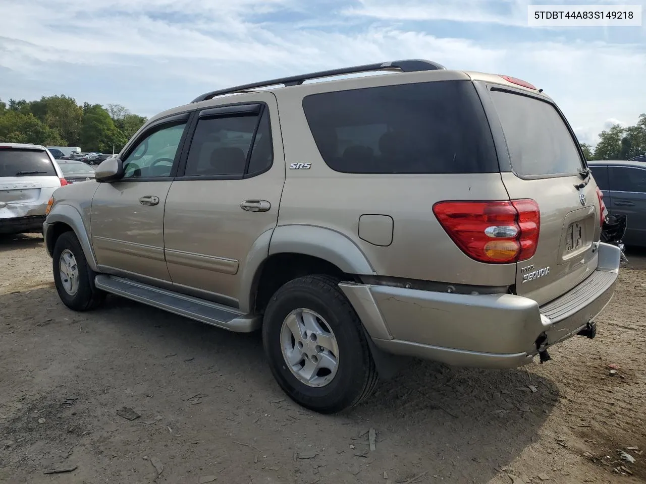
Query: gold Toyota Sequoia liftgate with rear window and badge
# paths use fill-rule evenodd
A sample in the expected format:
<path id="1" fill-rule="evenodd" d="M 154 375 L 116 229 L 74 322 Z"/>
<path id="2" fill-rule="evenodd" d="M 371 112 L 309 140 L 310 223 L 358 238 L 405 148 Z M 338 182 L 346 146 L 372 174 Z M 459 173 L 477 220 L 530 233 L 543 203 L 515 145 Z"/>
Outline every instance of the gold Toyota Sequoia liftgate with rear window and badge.
<path id="1" fill-rule="evenodd" d="M 503 86 L 490 96 L 512 168 L 501 173 L 506 190 L 510 199 L 533 199 L 540 210 L 536 253 L 517 263 L 517 294 L 547 303 L 596 269 L 598 190 L 572 130 L 547 97 Z"/>

